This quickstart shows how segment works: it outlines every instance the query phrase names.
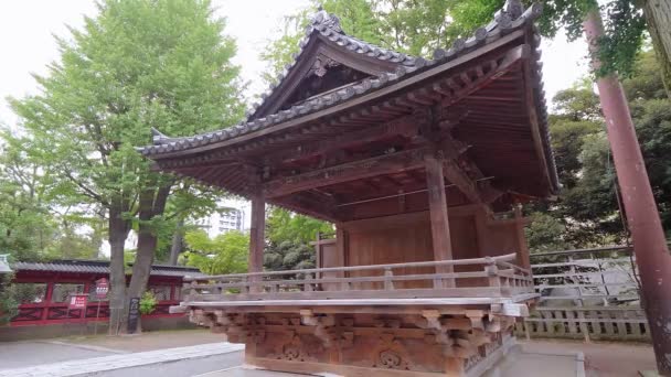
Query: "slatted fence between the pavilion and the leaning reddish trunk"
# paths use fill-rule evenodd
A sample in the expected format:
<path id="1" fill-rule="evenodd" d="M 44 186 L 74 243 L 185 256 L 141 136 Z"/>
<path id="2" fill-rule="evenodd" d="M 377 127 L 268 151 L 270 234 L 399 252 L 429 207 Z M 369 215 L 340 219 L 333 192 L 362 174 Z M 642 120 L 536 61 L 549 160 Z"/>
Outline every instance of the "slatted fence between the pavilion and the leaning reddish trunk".
<path id="1" fill-rule="evenodd" d="M 541 299 L 518 322 L 518 336 L 649 341 L 639 281 L 629 247 L 534 254 Z"/>

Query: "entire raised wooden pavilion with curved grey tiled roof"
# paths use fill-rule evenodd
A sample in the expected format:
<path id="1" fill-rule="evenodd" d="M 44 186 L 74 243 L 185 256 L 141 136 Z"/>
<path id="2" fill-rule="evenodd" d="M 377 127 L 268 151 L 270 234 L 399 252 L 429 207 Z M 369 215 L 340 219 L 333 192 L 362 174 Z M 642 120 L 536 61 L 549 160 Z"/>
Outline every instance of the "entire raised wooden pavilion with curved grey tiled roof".
<path id="1" fill-rule="evenodd" d="M 140 149 L 252 201 L 249 273 L 193 278 L 173 311 L 262 368 L 478 376 L 537 297 L 519 205 L 557 190 L 533 24 L 508 1 L 433 60 L 319 11 L 246 121 Z M 263 271 L 266 204 L 334 224 L 319 267 Z"/>

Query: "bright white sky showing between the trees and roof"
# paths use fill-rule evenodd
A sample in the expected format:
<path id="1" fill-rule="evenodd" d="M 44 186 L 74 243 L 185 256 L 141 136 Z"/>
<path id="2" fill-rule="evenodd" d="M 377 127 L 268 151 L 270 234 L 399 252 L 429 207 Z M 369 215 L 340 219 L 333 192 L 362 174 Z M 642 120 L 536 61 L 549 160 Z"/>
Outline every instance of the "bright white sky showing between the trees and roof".
<path id="1" fill-rule="evenodd" d="M 246 95 L 263 91 L 265 64 L 258 54 L 277 33 L 283 17 L 306 7 L 308 0 L 214 0 L 213 4 L 216 14 L 227 19 L 226 33 L 237 40 L 235 63 L 242 65 L 242 76 L 251 84 Z M 17 122 L 6 97 L 38 91 L 31 73 L 46 73 L 46 65 L 58 58 L 53 35 L 67 36 L 66 24 L 81 28 L 84 14 L 96 14 L 93 0 L 0 1 L 0 123 Z M 543 41 L 542 50 L 550 103 L 557 90 L 587 73 L 586 44 L 582 40 L 569 44 L 562 35 Z"/>

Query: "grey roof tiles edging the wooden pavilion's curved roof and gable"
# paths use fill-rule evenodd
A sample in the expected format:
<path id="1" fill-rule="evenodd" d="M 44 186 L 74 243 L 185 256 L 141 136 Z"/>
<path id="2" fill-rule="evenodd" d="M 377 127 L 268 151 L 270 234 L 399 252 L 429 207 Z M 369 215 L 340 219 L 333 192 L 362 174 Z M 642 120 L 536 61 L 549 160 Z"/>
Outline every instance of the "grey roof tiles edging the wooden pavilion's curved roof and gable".
<path id="1" fill-rule="evenodd" d="M 491 21 L 486 28 L 480 28 L 476 30 L 475 34 L 465 40 L 457 39 L 452 46 L 449 50 L 437 49 L 433 54 L 432 61 L 426 61 L 422 57 L 414 57 L 401 53 L 391 52 L 379 46 L 365 43 L 352 36 L 345 35 L 342 33 L 340 29 L 340 23 L 338 18 L 331 14 L 328 14 L 324 11 L 318 12 L 312 23 L 308 26 L 307 35 L 301 42 L 301 46 L 305 46 L 308 39 L 312 33 L 318 32 L 329 37 L 333 41 L 340 41 L 343 44 L 356 44 L 358 49 L 355 50 L 358 53 L 366 54 L 369 56 L 375 56 L 381 60 L 388 60 L 391 56 L 394 56 L 395 60 L 402 64 L 398 66 L 396 72 L 394 73 L 383 73 L 376 77 L 369 77 L 345 89 L 340 89 L 336 93 L 328 93 L 317 98 L 309 100 L 307 103 L 298 104 L 291 106 L 287 110 L 281 110 L 277 114 L 269 115 L 265 119 L 256 119 L 247 122 L 242 122 L 234 127 L 230 127 L 227 129 L 223 129 L 215 132 L 210 132 L 205 134 L 200 134 L 195 137 L 187 137 L 187 138 L 168 138 L 160 132 L 156 131 L 153 137 L 153 146 L 138 148 L 138 151 L 146 157 L 159 158 L 163 153 L 187 150 L 193 147 L 205 146 L 215 141 L 223 141 L 227 139 L 235 138 L 239 134 L 244 134 L 251 131 L 256 131 L 260 128 L 271 127 L 274 125 L 308 115 L 319 109 L 323 109 L 327 107 L 331 107 L 343 103 L 354 96 L 360 96 L 363 94 L 368 94 L 374 90 L 377 90 L 384 86 L 391 85 L 393 83 L 403 80 L 412 75 L 415 75 L 422 71 L 430 68 L 433 66 L 444 64 L 446 62 L 455 60 L 457 56 L 471 52 L 484 44 L 491 43 L 502 35 L 509 34 L 512 31 L 525 28 L 526 25 L 533 25 L 533 21 L 537 19 L 541 14 L 542 6 L 540 3 L 532 4 L 529 9 L 523 11 L 523 7 L 519 0 L 508 0 L 503 9 L 501 9 L 494 15 L 494 20 Z M 534 31 L 534 64 L 536 66 L 536 80 L 537 84 L 542 82 L 542 74 L 540 69 L 540 52 L 536 47 L 540 44 L 540 35 L 537 35 L 537 30 L 533 26 Z M 299 52 L 296 58 L 299 57 Z M 291 69 L 291 66 L 296 64 L 296 60 L 294 63 L 289 64 L 287 67 L 288 72 Z M 284 76 L 280 76 L 280 80 Z M 273 89 L 274 86 L 270 86 Z M 552 157 L 552 150 L 550 149 L 550 132 L 547 131 L 547 111 L 545 108 L 545 97 L 544 91 L 542 90 L 542 86 L 539 90 L 534 90 L 536 96 L 537 104 L 537 114 L 540 116 L 540 123 L 542 131 L 544 133 L 544 143 L 545 143 L 545 153 L 548 163 L 551 164 L 551 171 L 554 172 L 551 177 L 555 186 L 558 185 L 558 180 L 556 176 L 556 170 L 554 169 L 554 159 Z M 251 114 L 253 115 L 255 109 L 258 108 L 256 105 Z M 216 137 L 214 137 L 216 136 Z"/>

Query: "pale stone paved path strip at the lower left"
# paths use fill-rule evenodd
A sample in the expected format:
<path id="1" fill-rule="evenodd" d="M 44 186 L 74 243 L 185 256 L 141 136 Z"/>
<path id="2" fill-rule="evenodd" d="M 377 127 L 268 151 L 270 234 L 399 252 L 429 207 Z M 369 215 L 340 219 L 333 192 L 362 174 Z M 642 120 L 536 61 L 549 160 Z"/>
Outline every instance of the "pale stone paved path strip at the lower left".
<path id="1" fill-rule="evenodd" d="M 105 371 L 135 368 L 140 366 L 164 364 L 193 358 L 205 358 L 244 349 L 244 345 L 231 343 L 211 343 L 189 347 L 117 354 L 43 364 L 34 367 L 0 369 L 0 377 L 54 377 L 54 376 L 90 376 Z"/>

